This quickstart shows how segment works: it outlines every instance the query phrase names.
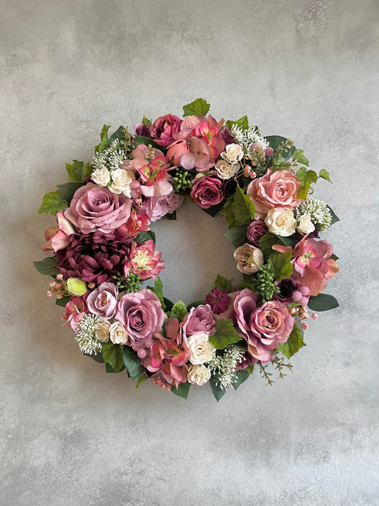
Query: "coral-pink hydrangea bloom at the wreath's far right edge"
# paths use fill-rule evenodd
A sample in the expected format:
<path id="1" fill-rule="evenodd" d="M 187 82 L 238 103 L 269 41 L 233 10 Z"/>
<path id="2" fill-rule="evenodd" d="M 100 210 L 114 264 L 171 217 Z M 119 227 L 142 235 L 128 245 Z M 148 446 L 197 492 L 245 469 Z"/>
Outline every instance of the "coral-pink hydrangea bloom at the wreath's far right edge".
<path id="1" fill-rule="evenodd" d="M 333 248 L 327 241 L 303 238 L 294 247 L 294 272 L 292 278 L 300 286 L 307 286 L 310 295 L 319 295 L 326 287 L 327 280 L 338 273 L 338 265 L 331 254 Z"/>

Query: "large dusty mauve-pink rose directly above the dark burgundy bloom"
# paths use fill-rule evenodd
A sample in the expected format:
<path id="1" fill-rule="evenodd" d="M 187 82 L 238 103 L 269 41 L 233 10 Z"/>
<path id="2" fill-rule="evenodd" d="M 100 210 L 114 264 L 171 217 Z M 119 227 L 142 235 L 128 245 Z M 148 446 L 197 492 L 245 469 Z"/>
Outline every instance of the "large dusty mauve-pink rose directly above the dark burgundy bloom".
<path id="1" fill-rule="evenodd" d="M 127 222 L 131 208 L 132 200 L 124 194 L 116 195 L 107 188 L 87 183 L 75 191 L 64 215 L 82 233 L 96 230 L 109 233 Z"/>

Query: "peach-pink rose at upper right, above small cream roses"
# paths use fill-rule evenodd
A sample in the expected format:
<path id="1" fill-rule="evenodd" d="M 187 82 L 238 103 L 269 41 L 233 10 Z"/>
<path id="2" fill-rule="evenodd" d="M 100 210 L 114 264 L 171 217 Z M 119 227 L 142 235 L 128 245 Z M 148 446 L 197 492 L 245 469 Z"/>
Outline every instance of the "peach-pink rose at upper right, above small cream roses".
<path id="1" fill-rule="evenodd" d="M 254 179 L 247 186 L 247 194 L 255 205 L 255 211 L 260 218 L 269 209 L 294 209 L 302 201 L 297 199 L 297 190 L 301 186 L 300 179 L 293 170 L 281 170 L 267 173 Z"/>

